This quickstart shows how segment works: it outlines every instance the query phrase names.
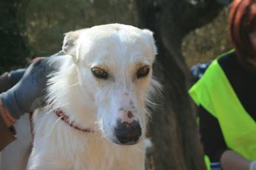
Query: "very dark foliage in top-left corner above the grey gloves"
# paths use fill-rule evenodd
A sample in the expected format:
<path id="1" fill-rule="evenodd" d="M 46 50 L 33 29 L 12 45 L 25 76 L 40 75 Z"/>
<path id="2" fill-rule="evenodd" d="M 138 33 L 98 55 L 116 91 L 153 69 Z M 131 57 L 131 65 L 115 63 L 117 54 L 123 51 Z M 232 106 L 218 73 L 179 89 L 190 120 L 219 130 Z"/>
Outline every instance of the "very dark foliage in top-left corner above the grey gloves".
<path id="1" fill-rule="evenodd" d="M 0 73 L 24 65 L 24 56 L 29 56 L 26 38 L 21 35 L 17 24 L 17 20 L 22 16 L 22 12 L 17 13 L 18 9 L 22 8 L 17 1 L 0 1 Z"/>

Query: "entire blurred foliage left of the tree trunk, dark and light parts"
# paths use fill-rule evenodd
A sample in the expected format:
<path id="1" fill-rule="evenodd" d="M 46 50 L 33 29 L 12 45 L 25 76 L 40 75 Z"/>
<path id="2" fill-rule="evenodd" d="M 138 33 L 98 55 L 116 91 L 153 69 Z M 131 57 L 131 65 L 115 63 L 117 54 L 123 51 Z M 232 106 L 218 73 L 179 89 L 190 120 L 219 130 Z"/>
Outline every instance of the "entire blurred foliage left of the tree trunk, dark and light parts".
<path id="1" fill-rule="evenodd" d="M 2 42 L 6 43 L 4 39 L 10 41 L 10 35 L 4 34 L 14 27 L 12 35 L 19 34 L 22 38 L 14 37 L 13 40 L 24 41 L 26 47 L 16 42 L 6 43 L 6 46 L 15 44 L 15 48 L 28 48 L 29 52 L 20 54 L 20 50 L 9 47 L 15 51 L 10 54 L 7 48 L 0 49 L 0 73 L 24 67 L 35 56 L 49 56 L 58 52 L 63 34 L 68 31 L 109 23 L 138 26 L 138 15 L 134 8 L 133 0 L 2 0 L 0 13 L 3 9 L 6 11 L 0 16 Z M 1 24 L 10 26 L 3 27 Z"/>

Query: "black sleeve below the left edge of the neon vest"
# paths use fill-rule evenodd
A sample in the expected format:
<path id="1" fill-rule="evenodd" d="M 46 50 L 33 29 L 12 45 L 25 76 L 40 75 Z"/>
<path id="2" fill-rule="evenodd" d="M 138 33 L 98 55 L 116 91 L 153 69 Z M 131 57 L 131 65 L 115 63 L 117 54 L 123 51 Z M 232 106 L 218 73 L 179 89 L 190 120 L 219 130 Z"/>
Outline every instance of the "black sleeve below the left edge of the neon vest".
<path id="1" fill-rule="evenodd" d="M 227 150 L 218 120 L 207 112 L 201 105 L 198 107 L 200 118 L 200 134 L 204 144 L 205 154 L 211 162 L 220 162 L 223 151 Z"/>

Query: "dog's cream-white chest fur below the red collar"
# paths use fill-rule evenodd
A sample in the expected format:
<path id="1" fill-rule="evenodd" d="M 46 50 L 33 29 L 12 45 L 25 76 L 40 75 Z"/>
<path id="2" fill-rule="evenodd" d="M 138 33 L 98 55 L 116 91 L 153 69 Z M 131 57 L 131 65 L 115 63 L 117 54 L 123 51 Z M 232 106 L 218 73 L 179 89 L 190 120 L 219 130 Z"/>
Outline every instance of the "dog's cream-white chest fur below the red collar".
<path id="1" fill-rule="evenodd" d="M 70 127 L 54 112 L 35 112 L 35 147 L 29 169 L 144 169 L 144 140 L 136 146 L 119 146 L 98 132 Z"/>

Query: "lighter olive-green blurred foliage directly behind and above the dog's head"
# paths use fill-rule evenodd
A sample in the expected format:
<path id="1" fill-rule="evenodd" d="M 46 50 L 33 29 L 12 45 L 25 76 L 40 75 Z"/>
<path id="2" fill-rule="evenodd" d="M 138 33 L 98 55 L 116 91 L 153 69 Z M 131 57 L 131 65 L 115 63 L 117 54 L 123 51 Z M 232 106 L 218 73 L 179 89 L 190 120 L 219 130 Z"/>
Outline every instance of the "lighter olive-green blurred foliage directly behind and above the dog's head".
<path id="1" fill-rule="evenodd" d="M 33 56 L 58 52 L 68 31 L 113 22 L 137 25 L 132 0 L 31 1 L 26 20 Z"/>

